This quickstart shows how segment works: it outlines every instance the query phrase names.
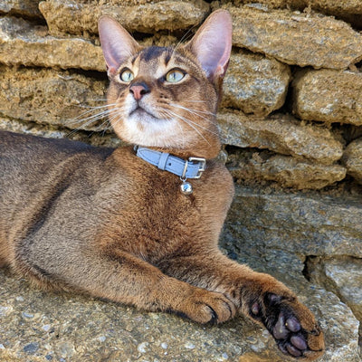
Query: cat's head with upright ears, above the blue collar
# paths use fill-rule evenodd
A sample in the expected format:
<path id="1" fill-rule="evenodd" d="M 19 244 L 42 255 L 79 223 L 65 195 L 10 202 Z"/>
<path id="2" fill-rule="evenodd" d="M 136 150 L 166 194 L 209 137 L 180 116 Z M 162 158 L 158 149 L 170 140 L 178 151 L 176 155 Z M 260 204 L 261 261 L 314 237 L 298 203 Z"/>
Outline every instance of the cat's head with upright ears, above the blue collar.
<path id="1" fill-rule="evenodd" d="M 110 121 L 119 138 L 174 153 L 215 157 L 215 112 L 232 47 L 231 16 L 215 11 L 192 40 L 142 49 L 110 16 L 100 17 L 110 77 Z"/>

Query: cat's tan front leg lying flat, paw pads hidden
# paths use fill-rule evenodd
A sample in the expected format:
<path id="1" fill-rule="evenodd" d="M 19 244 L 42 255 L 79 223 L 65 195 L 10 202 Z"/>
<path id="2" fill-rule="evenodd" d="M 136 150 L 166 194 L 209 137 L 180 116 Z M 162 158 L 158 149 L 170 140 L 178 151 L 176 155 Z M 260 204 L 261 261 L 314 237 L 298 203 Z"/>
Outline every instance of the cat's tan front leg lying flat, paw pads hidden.
<path id="1" fill-rule="evenodd" d="M 18 269 L 20 272 L 28 269 L 29 276 L 42 271 L 42 279 L 46 278 L 50 285 L 56 281 L 58 288 L 82 291 L 141 310 L 176 313 L 198 323 L 225 321 L 236 314 L 233 302 L 223 293 L 167 276 L 129 252 L 77 252 L 72 260 L 76 262 L 37 260 L 36 265 L 29 260 L 26 266 L 19 264 Z M 52 276 L 56 276 L 56 280 Z M 38 282 L 41 281 L 39 277 Z"/>

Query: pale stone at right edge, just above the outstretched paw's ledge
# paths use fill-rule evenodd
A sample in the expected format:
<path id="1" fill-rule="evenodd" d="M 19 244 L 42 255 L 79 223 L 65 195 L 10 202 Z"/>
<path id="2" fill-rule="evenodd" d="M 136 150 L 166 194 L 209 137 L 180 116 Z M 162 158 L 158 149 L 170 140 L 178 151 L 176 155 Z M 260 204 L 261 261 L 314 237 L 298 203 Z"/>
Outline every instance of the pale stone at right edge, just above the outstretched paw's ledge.
<path id="1" fill-rule="evenodd" d="M 310 258 L 307 267 L 311 281 L 336 293 L 362 321 L 362 259 Z"/>

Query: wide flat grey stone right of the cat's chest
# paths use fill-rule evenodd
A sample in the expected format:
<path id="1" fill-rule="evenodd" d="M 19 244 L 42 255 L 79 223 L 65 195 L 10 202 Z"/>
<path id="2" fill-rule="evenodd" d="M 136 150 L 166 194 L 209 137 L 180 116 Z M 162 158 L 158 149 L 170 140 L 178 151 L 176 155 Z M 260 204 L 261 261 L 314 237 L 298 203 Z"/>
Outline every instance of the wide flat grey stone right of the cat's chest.
<path id="1" fill-rule="evenodd" d="M 362 196 L 236 188 L 226 229 L 245 250 L 362 258 Z"/>

